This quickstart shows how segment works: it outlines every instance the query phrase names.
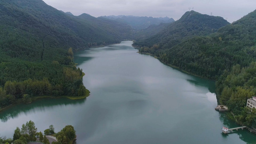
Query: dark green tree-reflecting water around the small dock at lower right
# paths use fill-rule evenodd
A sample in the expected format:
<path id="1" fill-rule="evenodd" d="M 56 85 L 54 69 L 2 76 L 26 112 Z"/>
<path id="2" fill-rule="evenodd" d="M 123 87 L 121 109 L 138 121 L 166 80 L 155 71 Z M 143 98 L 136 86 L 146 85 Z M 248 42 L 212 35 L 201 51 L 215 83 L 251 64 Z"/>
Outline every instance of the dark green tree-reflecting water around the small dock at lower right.
<path id="1" fill-rule="evenodd" d="M 236 124 L 235 121 L 230 120 L 226 113 L 224 112 L 219 112 L 219 120 L 222 121 L 223 126 L 227 126 L 228 128 L 235 128 L 235 127 L 240 127 L 240 125 Z M 239 135 L 239 138 L 243 140 L 247 144 L 255 144 L 256 140 L 256 134 L 251 133 L 247 131 L 246 129 L 244 130 L 238 130 L 238 131 L 233 131 L 233 133 L 230 134 L 237 134 Z M 222 134 L 222 137 L 227 138 L 229 134 Z"/>

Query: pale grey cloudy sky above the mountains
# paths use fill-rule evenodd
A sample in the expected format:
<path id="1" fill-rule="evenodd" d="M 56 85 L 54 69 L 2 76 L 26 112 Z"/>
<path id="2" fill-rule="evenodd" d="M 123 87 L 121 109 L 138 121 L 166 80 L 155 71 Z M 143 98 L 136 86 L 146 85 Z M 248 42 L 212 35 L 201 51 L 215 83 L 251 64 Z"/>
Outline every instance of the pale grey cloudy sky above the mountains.
<path id="1" fill-rule="evenodd" d="M 194 8 L 202 14 L 236 21 L 256 9 L 256 0 L 44 0 L 48 5 L 74 15 L 134 15 L 172 17 L 175 21 Z"/>

